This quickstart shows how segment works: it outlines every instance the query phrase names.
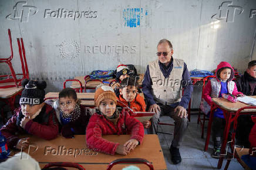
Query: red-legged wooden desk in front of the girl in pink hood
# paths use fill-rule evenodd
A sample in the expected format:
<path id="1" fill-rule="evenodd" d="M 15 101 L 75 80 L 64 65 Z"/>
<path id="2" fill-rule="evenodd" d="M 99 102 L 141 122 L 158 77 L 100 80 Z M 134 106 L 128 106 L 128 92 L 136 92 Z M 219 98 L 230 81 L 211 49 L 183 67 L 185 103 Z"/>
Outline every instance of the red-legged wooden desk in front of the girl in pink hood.
<path id="1" fill-rule="evenodd" d="M 250 96 L 253 98 L 256 98 L 256 96 Z M 224 130 L 224 135 L 223 135 L 223 143 L 221 145 L 221 154 L 225 154 L 225 147 L 227 145 L 227 138 L 228 138 L 228 132 L 230 131 L 230 125 L 234 121 L 234 115 L 238 111 L 238 109 L 246 106 L 250 106 L 248 104 L 241 103 L 238 101 L 237 103 L 232 103 L 231 101 L 228 101 L 225 98 L 212 98 L 211 99 L 211 111 L 210 111 L 210 118 L 208 122 L 208 128 L 207 128 L 207 137 L 206 137 L 206 143 L 204 145 L 204 151 L 207 151 L 208 149 L 208 144 L 210 141 L 210 134 L 211 134 L 211 124 L 213 122 L 213 114 L 214 110 L 216 108 L 220 108 L 223 110 L 224 118 L 225 118 L 225 130 Z M 247 109 L 242 111 L 242 114 L 250 114 L 250 113 L 255 113 L 256 109 Z M 218 169 L 221 169 L 221 166 L 223 164 L 223 159 L 224 157 L 220 157 L 218 161 Z"/>

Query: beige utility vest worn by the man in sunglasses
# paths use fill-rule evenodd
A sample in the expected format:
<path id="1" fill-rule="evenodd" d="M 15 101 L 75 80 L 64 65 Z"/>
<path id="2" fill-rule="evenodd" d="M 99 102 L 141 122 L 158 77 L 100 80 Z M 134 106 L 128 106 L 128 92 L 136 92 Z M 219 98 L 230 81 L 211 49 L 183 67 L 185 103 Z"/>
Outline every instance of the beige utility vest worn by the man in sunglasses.
<path id="1" fill-rule="evenodd" d="M 173 104 L 181 101 L 181 80 L 184 61 L 173 59 L 173 69 L 169 77 L 165 78 L 159 67 L 159 60 L 149 63 L 150 78 L 153 83 L 152 90 L 156 103 Z"/>

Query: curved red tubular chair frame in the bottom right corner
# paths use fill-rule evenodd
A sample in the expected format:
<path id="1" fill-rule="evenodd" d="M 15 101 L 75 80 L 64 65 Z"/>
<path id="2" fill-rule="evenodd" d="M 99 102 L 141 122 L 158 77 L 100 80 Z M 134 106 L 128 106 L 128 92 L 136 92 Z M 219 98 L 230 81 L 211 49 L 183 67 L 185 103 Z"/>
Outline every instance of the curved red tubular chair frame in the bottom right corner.
<path id="1" fill-rule="evenodd" d="M 241 111 L 242 110 L 245 110 L 245 109 L 250 109 L 250 108 L 254 108 L 256 109 L 255 106 L 247 106 L 247 107 L 242 107 L 240 109 L 238 109 L 237 113 L 235 113 L 235 117 L 233 118 L 234 119 L 234 122 L 233 122 L 233 132 L 232 132 L 232 142 L 231 142 L 231 151 L 232 153 L 234 153 L 234 157 L 237 158 L 237 161 L 242 165 L 241 163 L 241 159 L 238 157 L 237 153 L 234 152 L 234 149 L 235 149 L 235 131 L 237 130 L 237 120 L 238 120 L 238 117 L 242 114 Z M 251 113 L 251 114 L 254 114 L 256 115 L 256 113 Z M 252 153 L 252 147 L 250 147 L 250 151 L 249 151 L 249 154 Z M 232 155 L 233 156 L 233 155 Z M 224 169 L 228 169 L 228 166 L 230 165 L 230 162 L 231 162 L 231 159 L 227 159 L 227 163 L 225 165 L 225 168 Z M 243 165 L 242 165 L 243 168 L 245 168 Z"/>

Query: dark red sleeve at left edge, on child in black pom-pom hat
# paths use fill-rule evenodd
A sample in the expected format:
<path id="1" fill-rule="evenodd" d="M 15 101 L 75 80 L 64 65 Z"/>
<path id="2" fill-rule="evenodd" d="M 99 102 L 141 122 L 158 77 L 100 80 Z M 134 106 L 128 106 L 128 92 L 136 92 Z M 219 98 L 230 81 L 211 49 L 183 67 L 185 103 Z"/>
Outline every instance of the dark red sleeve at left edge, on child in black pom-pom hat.
<path id="1" fill-rule="evenodd" d="M 15 132 L 19 131 L 16 125 L 16 115 L 13 115 L 0 131 L 1 134 L 6 138 L 8 147 L 14 148 L 19 141 L 19 138 L 15 135 Z"/>

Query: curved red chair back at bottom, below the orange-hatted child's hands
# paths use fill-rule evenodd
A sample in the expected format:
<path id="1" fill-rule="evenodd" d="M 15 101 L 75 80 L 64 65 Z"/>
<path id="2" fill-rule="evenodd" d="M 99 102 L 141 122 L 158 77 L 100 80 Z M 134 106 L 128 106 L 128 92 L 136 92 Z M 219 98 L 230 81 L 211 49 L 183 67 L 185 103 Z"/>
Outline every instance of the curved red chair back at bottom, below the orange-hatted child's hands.
<path id="1" fill-rule="evenodd" d="M 142 158 L 123 158 L 123 159 L 116 159 L 109 163 L 107 166 L 107 170 L 110 170 L 114 165 L 116 164 L 124 164 L 124 163 L 130 163 L 130 164 L 145 164 L 149 166 L 150 170 L 154 169 L 154 166 L 151 164 L 151 162 L 147 161 L 146 159 Z"/>

